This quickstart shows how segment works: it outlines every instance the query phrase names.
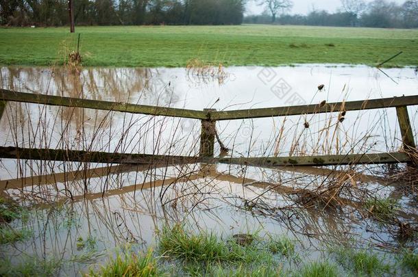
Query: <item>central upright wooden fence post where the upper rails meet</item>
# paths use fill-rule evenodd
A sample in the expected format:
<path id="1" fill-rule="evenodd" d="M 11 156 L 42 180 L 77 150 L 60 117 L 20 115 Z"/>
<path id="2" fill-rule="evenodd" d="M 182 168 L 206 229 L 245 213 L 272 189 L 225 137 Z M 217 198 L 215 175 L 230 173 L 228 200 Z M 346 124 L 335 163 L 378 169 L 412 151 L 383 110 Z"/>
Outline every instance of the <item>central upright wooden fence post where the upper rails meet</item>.
<path id="1" fill-rule="evenodd" d="M 204 109 L 208 114 L 216 109 Z M 208 119 L 201 120 L 200 153 L 199 157 L 214 156 L 214 137 L 216 132 L 216 121 Z"/>

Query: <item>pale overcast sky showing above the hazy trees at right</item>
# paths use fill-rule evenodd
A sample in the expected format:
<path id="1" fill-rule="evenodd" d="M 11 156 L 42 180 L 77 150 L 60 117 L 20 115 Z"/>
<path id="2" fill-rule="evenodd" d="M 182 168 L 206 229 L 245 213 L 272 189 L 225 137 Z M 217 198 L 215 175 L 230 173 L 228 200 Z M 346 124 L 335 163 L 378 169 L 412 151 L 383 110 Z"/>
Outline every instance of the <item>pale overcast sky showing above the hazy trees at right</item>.
<path id="1" fill-rule="evenodd" d="M 371 2 L 371 0 L 366 0 Z M 405 0 L 393 0 L 396 3 L 404 3 Z M 312 5 L 315 5 L 315 10 L 328 10 L 329 12 L 335 12 L 341 7 L 340 0 L 293 0 L 293 9 L 291 14 L 307 14 L 311 12 Z M 260 14 L 264 10 L 263 7 L 257 5 L 256 1 L 249 0 L 247 4 L 246 14 Z"/>

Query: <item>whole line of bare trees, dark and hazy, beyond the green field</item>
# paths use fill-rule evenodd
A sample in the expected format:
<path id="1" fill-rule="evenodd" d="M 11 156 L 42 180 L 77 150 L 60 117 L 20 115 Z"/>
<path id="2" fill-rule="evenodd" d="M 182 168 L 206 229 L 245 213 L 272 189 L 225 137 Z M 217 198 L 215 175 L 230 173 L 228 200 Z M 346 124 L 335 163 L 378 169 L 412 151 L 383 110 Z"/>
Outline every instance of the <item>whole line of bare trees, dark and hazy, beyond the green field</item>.
<path id="1" fill-rule="evenodd" d="M 246 16 L 256 1 L 261 15 Z M 341 0 L 339 11 L 288 12 L 291 0 L 73 0 L 76 25 L 236 25 L 262 23 L 344 27 L 418 27 L 418 0 L 402 5 L 386 0 Z M 0 0 L 0 25 L 69 25 L 69 0 Z"/>

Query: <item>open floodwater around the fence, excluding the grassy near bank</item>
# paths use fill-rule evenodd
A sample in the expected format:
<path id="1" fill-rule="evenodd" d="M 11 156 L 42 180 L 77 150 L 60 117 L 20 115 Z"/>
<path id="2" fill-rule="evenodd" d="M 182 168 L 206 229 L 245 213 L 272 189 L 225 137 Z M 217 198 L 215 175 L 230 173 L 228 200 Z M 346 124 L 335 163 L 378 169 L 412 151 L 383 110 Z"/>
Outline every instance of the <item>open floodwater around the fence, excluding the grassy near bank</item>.
<path id="1" fill-rule="evenodd" d="M 317 89 L 320 84 L 325 85 L 322 91 Z M 231 110 L 415 95 L 418 77 L 413 68 L 381 72 L 366 66 L 231 67 L 203 73 L 185 68 L 71 72 L 3 67 L 0 87 L 162 107 Z M 418 109 L 408 111 L 417 137 Z M 232 120 L 218 122 L 217 131 L 233 157 L 380 153 L 398 150 L 402 144 L 395 109 L 349 111 L 345 118 L 342 124 L 337 124 L 338 114 Z M 8 103 L 0 129 L 1 146 L 163 155 L 199 152 L 199 120 Z M 215 150 L 219 155 L 218 144 Z M 390 196 L 402 207 L 399 220 L 418 224 L 416 198 L 402 193 L 403 184 L 388 180 L 388 172 L 390 168 L 382 166 L 144 167 L 2 159 L 1 194 L 32 210 L 27 219 L 12 225 L 29 228 L 33 237 L 0 249 L 13 263 L 25 255 L 59 257 L 60 274 L 76 275 L 90 264 L 106 261 L 123 243 L 134 243 L 142 250 L 156 246 L 156 230 L 183 222 L 190 230 L 213 230 L 222 237 L 255 231 L 288 235 L 299 240 L 298 248 L 308 253 L 306 260 L 321 256 L 318 248 L 341 241 L 395 250 L 396 228 L 380 226 L 356 209 L 366 194 Z M 301 204 L 308 190 L 336 181 L 356 187 L 353 195 L 342 197 L 341 209 Z M 93 250 L 77 247 L 79 237 L 93 237 Z M 391 261 L 390 256 L 387 259 Z"/>

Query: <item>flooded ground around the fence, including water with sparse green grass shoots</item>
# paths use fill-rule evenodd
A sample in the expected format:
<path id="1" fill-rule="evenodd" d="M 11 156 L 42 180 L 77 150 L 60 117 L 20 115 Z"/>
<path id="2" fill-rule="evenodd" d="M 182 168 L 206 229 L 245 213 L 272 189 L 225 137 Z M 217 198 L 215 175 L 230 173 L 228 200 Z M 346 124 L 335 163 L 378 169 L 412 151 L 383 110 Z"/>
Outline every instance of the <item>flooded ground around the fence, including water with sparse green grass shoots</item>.
<path id="1" fill-rule="evenodd" d="M 0 87 L 221 111 L 416 95 L 418 76 L 413 68 L 382 72 L 365 66 L 319 65 L 79 72 L 3 67 Z M 408 111 L 417 140 L 418 109 Z M 1 146 L 196 156 L 201 122 L 8 103 L 0 129 Z M 219 141 L 229 149 L 222 153 L 216 143 L 216 157 L 367 155 L 402 148 L 394 108 L 225 120 L 218 121 L 216 129 Z M 45 275 L 80 276 L 108 265 L 110 257 L 129 245 L 136 253 L 152 248 L 158 268 L 171 275 L 312 276 L 304 270 L 326 263 L 331 268 L 328 276 L 414 276 L 417 179 L 416 168 L 402 164 L 261 168 L 1 159 L 0 207 L 10 216 L 0 217 L 7 222 L 1 231 L 0 256 L 5 262 L 0 274 L 14 270 L 24 275 L 25 267 Z M 195 239 L 188 259 L 174 252 L 180 246 L 167 243 L 175 232 Z M 240 270 L 245 259 L 234 258 L 227 265 L 223 256 L 197 259 L 205 253 L 193 246 L 207 237 L 193 236 L 208 233 L 230 252 L 242 248 L 241 256 L 265 254 L 268 259 L 260 259 L 256 268 L 244 273 Z M 241 245 L 242 237 L 250 242 Z M 266 254 L 264 248 L 272 242 L 280 247 L 267 247 L 271 251 Z M 257 266 L 272 272 L 257 274 Z"/>

